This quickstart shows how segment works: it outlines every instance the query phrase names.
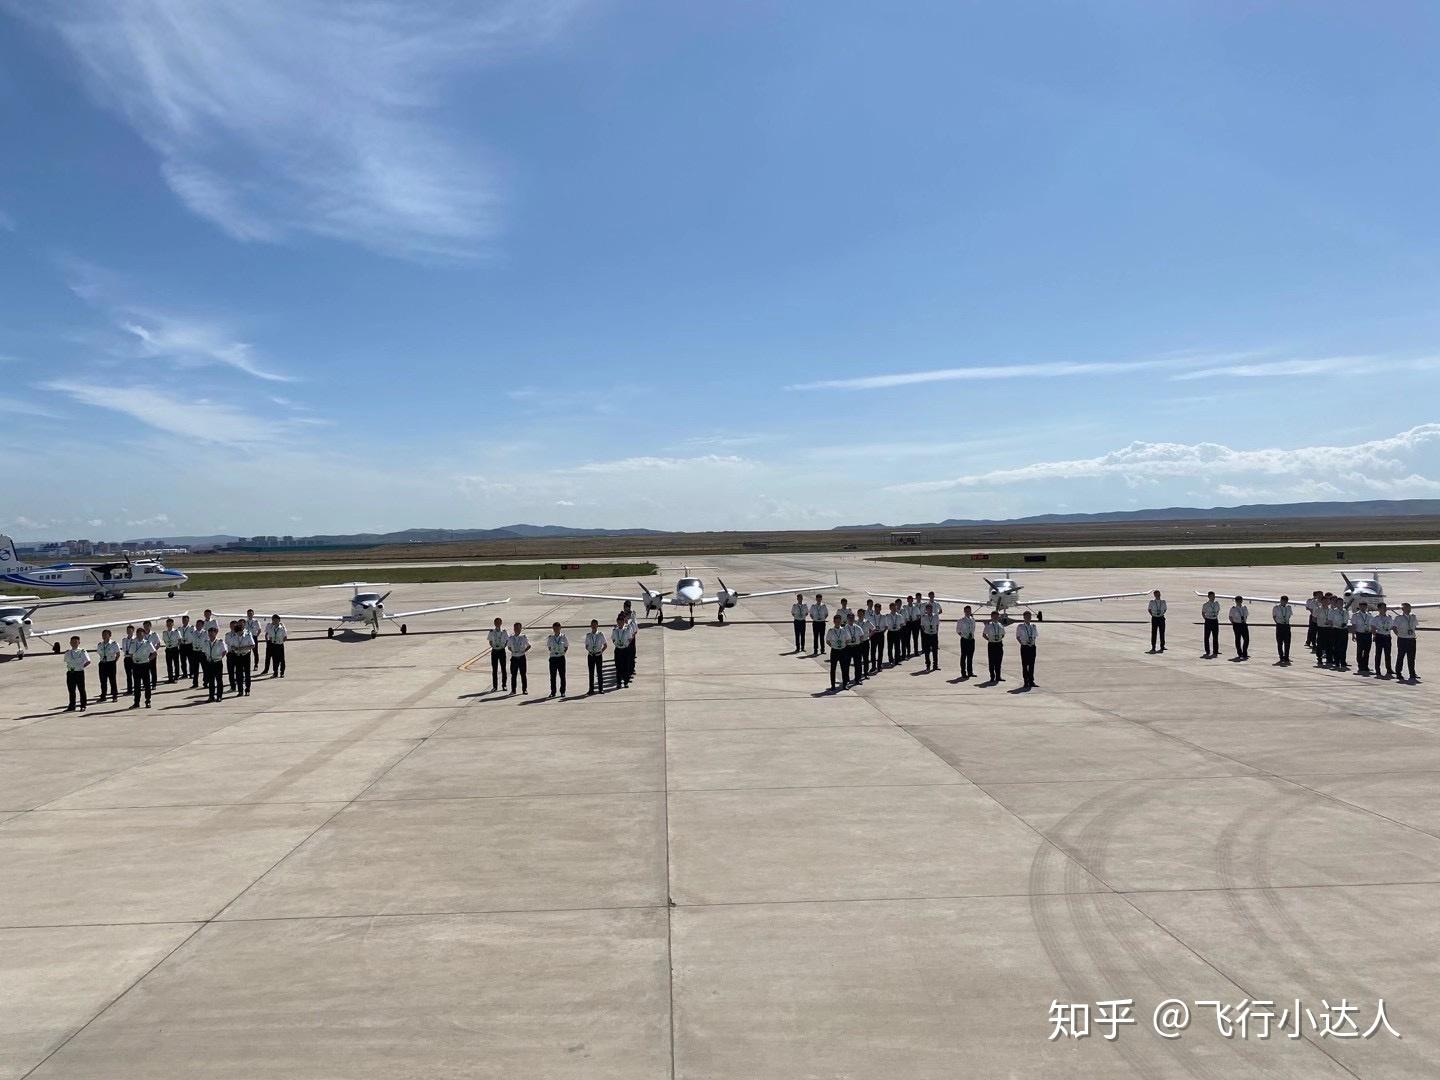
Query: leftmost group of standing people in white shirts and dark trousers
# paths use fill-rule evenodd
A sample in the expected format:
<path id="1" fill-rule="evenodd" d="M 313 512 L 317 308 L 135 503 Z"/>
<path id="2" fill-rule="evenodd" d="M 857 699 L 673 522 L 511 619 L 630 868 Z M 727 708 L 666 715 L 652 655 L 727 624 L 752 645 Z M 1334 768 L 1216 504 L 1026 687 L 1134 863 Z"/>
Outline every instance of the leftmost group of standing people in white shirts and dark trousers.
<path id="1" fill-rule="evenodd" d="M 265 644 L 265 667 L 261 675 L 285 678 L 285 641 L 289 636 L 279 615 L 261 625 L 255 612 L 248 611 L 243 619 L 232 619 L 225 634 L 220 622 L 207 608 L 204 615 L 190 622 L 189 615 L 180 616 L 180 624 L 166 619 L 163 631 L 157 631 L 150 619 L 125 628 L 125 636 L 117 641 L 109 629 L 101 631 L 95 644 L 95 667 L 99 671 L 99 696 L 111 701 L 120 700 L 118 674 L 125 675 L 125 696 L 131 708 L 151 707 L 156 687 L 160 684 L 160 657 L 166 661 L 166 683 L 189 678 L 190 687 L 200 688 L 204 680 L 206 700 L 219 701 L 225 687 L 239 696 L 251 693 L 253 661 L 259 644 Z M 81 648 L 79 635 L 71 638 L 65 652 L 65 685 L 69 704 L 66 711 L 85 711 L 89 706 L 89 690 L 85 671 L 91 667 L 89 652 Z M 222 678 L 223 671 L 223 678 Z"/>

